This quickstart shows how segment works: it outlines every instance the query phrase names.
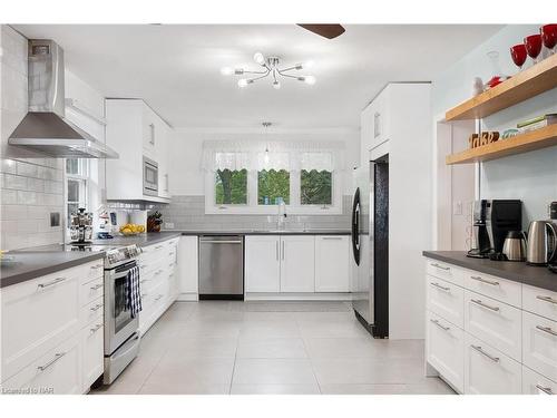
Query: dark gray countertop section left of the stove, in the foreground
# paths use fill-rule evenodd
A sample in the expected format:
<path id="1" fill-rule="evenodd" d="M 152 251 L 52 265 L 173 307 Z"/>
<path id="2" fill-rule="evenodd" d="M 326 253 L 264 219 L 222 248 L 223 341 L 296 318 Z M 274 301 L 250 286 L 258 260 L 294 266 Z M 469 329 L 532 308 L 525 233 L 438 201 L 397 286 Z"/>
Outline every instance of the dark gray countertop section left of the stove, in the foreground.
<path id="1" fill-rule="evenodd" d="M 10 251 L 13 262 L 0 268 L 0 288 L 26 282 L 41 275 L 85 264 L 102 259 L 102 252 L 65 252 L 65 251 Z"/>

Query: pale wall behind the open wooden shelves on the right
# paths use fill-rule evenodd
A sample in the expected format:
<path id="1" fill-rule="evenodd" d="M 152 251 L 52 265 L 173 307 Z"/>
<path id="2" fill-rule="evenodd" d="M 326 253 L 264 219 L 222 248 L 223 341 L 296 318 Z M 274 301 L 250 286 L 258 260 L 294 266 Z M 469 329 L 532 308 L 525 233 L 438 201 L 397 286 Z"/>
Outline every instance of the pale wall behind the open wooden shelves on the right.
<path id="1" fill-rule="evenodd" d="M 475 77 L 481 77 L 485 81 L 490 78 L 492 69 L 488 51 L 499 51 L 504 74 L 516 74 L 518 68 L 510 58 L 509 48 L 520 43 L 525 36 L 537 33 L 539 26 L 507 26 L 436 77 L 433 115 L 444 114 L 447 109 L 470 98 Z M 528 60 L 525 68 L 530 65 L 531 60 Z M 482 119 L 482 129 L 502 132 L 516 127 L 519 120 L 556 111 L 557 89 L 553 89 Z M 480 197 L 520 198 L 524 202 L 525 229 L 531 220 L 546 218 L 547 204 L 557 200 L 557 147 L 482 163 Z"/>

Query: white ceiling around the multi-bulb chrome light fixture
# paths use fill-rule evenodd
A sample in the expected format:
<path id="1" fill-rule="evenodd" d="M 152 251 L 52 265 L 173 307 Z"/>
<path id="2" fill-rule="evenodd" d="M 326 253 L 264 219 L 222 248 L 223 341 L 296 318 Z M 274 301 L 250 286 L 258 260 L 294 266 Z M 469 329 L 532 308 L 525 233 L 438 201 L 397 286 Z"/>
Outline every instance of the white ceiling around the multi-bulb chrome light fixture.
<path id="1" fill-rule="evenodd" d="M 500 26 L 345 26 L 328 40 L 295 25 L 14 26 L 51 38 L 66 65 L 106 97 L 140 97 L 175 127 L 358 127 L 388 81 L 431 80 Z M 255 51 L 312 59 L 314 86 L 263 80 L 245 89 L 224 66 L 254 68 Z M 470 81 L 471 82 L 471 81 Z"/>

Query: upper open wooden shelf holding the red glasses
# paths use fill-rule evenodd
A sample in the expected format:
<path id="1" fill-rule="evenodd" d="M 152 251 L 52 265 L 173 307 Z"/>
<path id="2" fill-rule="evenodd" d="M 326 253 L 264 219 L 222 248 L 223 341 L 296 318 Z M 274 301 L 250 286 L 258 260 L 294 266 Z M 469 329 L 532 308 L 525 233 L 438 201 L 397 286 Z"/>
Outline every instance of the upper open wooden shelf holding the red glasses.
<path id="1" fill-rule="evenodd" d="M 450 120 L 480 119 L 557 87 L 557 54 L 447 110 Z"/>

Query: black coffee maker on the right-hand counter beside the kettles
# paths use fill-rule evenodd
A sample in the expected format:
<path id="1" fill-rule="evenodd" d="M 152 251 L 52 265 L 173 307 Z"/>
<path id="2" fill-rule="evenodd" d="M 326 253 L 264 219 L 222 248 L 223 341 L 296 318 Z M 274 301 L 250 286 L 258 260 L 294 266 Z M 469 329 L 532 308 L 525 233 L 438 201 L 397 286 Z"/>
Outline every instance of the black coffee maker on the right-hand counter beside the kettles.
<path id="1" fill-rule="evenodd" d="M 522 230 L 522 202 L 481 200 L 473 205 L 473 242 L 468 256 L 496 257 L 509 231 Z"/>

